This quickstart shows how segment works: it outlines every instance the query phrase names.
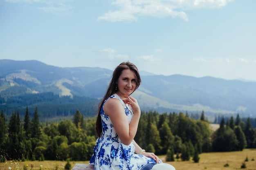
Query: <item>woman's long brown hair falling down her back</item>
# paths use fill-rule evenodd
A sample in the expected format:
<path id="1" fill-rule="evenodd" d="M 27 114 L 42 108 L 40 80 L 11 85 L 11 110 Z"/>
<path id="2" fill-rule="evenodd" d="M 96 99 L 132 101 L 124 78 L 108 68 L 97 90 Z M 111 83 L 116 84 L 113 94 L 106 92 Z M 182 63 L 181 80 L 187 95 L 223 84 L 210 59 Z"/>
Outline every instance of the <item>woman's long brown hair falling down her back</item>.
<path id="1" fill-rule="evenodd" d="M 115 92 L 117 91 L 115 89 L 116 88 L 116 84 L 117 84 L 117 80 L 118 80 L 119 76 L 121 75 L 122 71 L 126 70 L 126 69 L 130 69 L 131 71 L 133 71 L 135 73 L 135 76 L 136 76 L 136 87 L 135 87 L 134 91 L 139 87 L 141 79 L 140 79 L 138 68 L 134 64 L 132 64 L 131 62 L 122 62 L 121 64 L 119 64 L 115 68 L 115 70 L 113 72 L 113 75 L 112 75 L 112 79 L 111 79 L 110 84 L 108 86 L 108 90 L 106 91 L 104 97 L 101 99 L 101 102 L 99 103 L 98 117 L 97 117 L 97 121 L 96 121 L 96 132 L 97 132 L 97 136 L 98 137 L 100 137 L 101 133 L 102 133 L 101 107 L 102 107 L 104 101 L 106 99 L 108 99 L 108 97 L 110 97 L 111 95 L 115 94 Z"/>

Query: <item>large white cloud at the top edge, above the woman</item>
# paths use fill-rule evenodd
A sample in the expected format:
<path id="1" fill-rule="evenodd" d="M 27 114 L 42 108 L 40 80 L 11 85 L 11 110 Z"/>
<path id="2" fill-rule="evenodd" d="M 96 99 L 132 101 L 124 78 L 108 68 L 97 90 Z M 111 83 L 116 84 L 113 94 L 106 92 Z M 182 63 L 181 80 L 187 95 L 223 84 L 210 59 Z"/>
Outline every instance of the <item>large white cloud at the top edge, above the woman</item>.
<path id="1" fill-rule="evenodd" d="M 179 17 L 188 20 L 185 10 L 198 8 L 219 8 L 233 0 L 112 0 L 117 7 L 100 16 L 99 20 L 137 21 L 140 16 Z"/>

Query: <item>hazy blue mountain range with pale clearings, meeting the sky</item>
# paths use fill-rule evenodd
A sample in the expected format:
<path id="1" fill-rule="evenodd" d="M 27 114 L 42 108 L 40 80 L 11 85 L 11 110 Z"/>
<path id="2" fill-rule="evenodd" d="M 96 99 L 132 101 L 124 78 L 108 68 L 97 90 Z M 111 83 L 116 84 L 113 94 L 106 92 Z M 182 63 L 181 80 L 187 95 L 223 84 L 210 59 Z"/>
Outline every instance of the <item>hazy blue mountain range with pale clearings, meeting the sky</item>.
<path id="1" fill-rule="evenodd" d="M 47 92 L 99 99 L 111 76 L 112 71 L 106 68 L 61 68 L 36 60 L 0 60 L 0 104 L 6 104 L 11 96 Z M 211 115 L 239 113 L 256 117 L 256 82 L 164 76 L 143 71 L 141 79 L 141 86 L 132 94 L 141 110 L 188 113 L 204 110 Z M 17 92 L 12 94 L 14 88 Z"/>

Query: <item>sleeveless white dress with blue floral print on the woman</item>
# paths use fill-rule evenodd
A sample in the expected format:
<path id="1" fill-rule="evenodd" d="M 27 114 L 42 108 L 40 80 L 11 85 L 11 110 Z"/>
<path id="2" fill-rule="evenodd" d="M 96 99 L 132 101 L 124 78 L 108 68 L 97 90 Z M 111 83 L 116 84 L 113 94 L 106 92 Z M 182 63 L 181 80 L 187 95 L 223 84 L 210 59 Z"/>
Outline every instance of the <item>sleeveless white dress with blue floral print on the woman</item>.
<path id="1" fill-rule="evenodd" d="M 110 98 L 117 98 L 124 106 L 127 119 L 130 123 L 133 113 L 116 94 Z M 106 99 L 103 103 L 106 103 Z M 119 140 L 117 132 L 110 120 L 101 108 L 102 135 L 96 141 L 90 164 L 94 164 L 94 170 L 140 170 L 148 163 L 156 163 L 152 158 L 135 153 L 133 142 L 124 145 Z"/>

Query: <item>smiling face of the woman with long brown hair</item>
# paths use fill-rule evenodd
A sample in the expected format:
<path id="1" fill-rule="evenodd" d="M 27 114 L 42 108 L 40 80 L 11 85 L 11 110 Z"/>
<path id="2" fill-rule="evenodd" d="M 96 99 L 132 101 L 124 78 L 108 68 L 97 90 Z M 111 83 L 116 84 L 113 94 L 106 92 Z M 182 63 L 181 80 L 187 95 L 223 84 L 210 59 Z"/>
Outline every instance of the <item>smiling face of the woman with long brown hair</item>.
<path id="1" fill-rule="evenodd" d="M 130 69 L 122 71 L 117 80 L 117 95 L 119 97 L 128 97 L 136 87 L 136 76 Z"/>

